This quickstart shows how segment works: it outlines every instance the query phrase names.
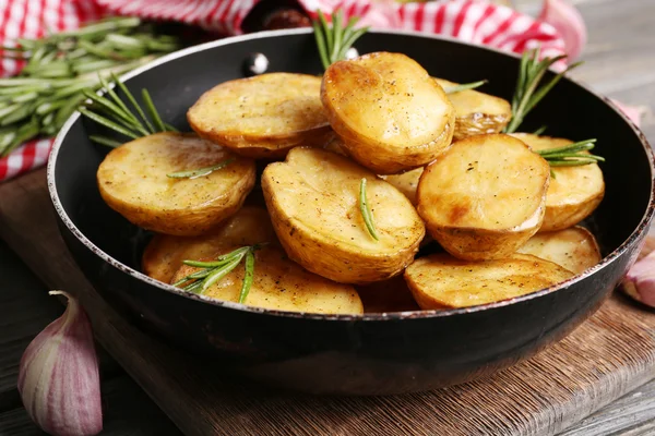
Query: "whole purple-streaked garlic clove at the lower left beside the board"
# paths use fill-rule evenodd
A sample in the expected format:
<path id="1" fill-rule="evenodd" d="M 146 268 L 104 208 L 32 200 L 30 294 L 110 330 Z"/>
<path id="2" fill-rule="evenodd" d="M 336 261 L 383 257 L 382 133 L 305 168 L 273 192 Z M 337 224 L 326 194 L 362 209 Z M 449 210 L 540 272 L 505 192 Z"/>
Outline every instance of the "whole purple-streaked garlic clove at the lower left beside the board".
<path id="1" fill-rule="evenodd" d="M 91 436 L 103 429 L 100 376 L 91 323 L 80 303 L 68 306 L 27 346 L 19 392 L 34 422 L 55 436 Z"/>

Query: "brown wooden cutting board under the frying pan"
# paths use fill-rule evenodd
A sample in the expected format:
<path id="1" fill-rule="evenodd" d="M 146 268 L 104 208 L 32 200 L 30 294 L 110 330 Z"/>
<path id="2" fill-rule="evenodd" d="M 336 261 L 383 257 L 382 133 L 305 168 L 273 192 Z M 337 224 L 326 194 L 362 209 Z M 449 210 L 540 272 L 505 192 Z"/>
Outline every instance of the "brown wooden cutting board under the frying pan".
<path id="1" fill-rule="evenodd" d="M 76 294 L 98 341 L 188 435 L 553 435 L 655 378 L 655 313 L 615 295 L 560 343 L 490 378 L 397 397 L 312 397 L 215 373 L 126 323 L 63 245 L 45 171 L 0 185 L 0 237 Z"/>

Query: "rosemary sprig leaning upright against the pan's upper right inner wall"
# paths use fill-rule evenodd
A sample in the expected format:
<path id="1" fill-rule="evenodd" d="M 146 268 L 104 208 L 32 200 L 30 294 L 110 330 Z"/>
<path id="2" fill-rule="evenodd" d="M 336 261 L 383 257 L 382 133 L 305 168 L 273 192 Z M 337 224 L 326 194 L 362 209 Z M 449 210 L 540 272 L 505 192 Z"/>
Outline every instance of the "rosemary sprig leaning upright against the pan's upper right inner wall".
<path id="1" fill-rule="evenodd" d="M 582 64 L 572 63 L 564 71 L 557 74 L 549 82 L 539 86 L 548 69 L 556 62 L 565 58 L 564 55 L 555 58 L 544 58 L 539 61 L 540 49 L 528 50 L 523 53 L 519 66 L 519 80 L 512 98 L 512 120 L 503 130 L 504 133 L 514 133 L 523 122 L 523 119 L 535 106 L 552 89 L 563 75 Z"/>

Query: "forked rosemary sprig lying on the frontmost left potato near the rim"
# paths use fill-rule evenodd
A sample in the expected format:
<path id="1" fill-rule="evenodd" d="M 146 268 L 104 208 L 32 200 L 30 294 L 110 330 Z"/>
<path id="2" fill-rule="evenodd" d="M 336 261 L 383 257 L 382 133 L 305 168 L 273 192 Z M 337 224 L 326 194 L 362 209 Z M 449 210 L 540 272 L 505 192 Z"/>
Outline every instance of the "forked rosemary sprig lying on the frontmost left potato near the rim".
<path id="1" fill-rule="evenodd" d="M 252 287 L 254 276 L 254 252 L 264 244 L 242 246 L 228 254 L 216 257 L 213 262 L 184 261 L 184 265 L 201 268 L 195 272 L 172 283 L 175 287 L 181 287 L 183 290 L 202 294 L 212 284 L 231 272 L 243 258 L 246 258 L 243 282 L 239 292 L 239 303 L 245 303 Z"/>

